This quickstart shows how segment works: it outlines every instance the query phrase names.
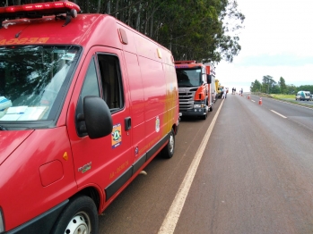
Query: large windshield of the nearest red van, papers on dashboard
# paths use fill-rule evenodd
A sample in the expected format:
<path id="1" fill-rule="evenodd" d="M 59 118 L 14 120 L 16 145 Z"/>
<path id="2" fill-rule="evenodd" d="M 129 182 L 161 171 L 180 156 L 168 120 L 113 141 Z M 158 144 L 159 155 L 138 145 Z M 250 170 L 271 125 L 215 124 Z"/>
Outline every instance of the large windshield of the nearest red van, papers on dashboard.
<path id="1" fill-rule="evenodd" d="M 55 120 L 78 46 L 0 46 L 0 122 Z"/>

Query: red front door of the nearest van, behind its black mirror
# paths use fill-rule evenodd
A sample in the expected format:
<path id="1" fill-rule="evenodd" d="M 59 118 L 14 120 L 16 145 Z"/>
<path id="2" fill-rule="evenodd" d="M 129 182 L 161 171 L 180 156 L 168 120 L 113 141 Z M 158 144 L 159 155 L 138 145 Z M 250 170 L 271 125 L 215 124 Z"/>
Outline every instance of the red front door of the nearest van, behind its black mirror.
<path id="1" fill-rule="evenodd" d="M 68 121 L 78 188 L 89 184 L 100 188 L 106 200 L 132 176 L 131 118 L 122 52 L 94 47 L 83 62 L 74 90 Z M 100 96 L 112 114 L 110 136 L 91 139 L 83 131 L 83 97 Z M 71 104 L 71 105 L 72 105 Z M 79 117 L 80 116 L 80 117 Z M 103 194 L 102 194 L 103 195 Z"/>

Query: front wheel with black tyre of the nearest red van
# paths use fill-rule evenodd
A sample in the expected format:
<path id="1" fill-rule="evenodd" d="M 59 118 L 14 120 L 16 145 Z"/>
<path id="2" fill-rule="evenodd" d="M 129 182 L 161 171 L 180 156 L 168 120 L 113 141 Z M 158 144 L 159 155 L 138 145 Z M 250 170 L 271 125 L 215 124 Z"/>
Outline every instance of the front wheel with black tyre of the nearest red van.
<path id="1" fill-rule="evenodd" d="M 52 230 L 59 233 L 98 233 L 98 213 L 89 196 L 77 196 L 66 205 Z"/>

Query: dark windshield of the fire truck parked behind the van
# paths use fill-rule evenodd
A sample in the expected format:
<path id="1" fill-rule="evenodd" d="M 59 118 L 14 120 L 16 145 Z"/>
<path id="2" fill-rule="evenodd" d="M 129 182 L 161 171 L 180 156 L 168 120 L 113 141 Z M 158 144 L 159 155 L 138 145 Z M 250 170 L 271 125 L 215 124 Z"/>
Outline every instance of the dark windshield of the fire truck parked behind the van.
<path id="1" fill-rule="evenodd" d="M 178 78 L 178 87 L 199 87 L 202 86 L 201 69 L 176 70 Z"/>

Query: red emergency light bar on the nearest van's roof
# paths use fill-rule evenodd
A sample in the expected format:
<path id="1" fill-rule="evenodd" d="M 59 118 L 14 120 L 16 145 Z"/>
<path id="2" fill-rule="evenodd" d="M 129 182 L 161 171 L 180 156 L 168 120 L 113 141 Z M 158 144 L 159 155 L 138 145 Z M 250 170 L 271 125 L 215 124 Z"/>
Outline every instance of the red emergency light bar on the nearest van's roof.
<path id="1" fill-rule="evenodd" d="M 71 17 L 75 18 L 77 13 L 81 12 L 81 8 L 74 3 L 67 0 L 49 3 L 39 4 L 23 4 L 0 7 L 0 21 L 1 27 L 2 22 L 6 19 L 13 20 L 16 18 L 41 18 L 47 15 L 59 15 L 66 14 L 65 25 L 71 21 Z M 65 26 L 64 25 L 64 26 Z"/>

